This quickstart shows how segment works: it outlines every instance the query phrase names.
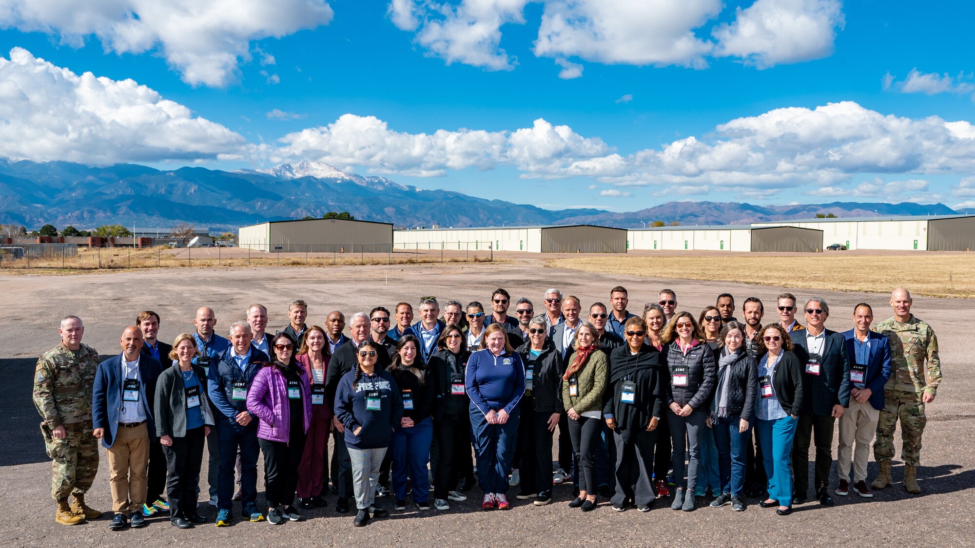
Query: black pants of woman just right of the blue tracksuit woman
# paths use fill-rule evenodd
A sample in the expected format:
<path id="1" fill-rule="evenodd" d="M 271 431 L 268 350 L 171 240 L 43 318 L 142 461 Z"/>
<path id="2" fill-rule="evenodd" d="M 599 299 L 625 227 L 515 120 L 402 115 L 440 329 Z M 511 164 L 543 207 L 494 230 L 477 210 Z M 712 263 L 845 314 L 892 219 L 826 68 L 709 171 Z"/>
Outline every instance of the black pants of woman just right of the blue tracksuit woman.
<path id="1" fill-rule="evenodd" d="M 552 493 L 552 432 L 548 429 L 551 412 L 534 411 L 534 398 L 526 396 L 519 404 L 518 448 L 522 448 L 521 494 Z"/>

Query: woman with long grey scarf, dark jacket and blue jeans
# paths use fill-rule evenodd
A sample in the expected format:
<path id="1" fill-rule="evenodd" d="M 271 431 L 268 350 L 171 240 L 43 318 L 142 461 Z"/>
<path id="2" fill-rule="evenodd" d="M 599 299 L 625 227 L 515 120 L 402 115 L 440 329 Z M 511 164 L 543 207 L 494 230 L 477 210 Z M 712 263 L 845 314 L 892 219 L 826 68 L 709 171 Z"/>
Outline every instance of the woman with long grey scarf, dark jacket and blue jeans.
<path id="1" fill-rule="evenodd" d="M 711 399 L 708 426 L 718 446 L 718 468 L 722 494 L 711 502 L 719 508 L 728 502 L 736 511 L 745 509 L 741 496 L 745 484 L 745 445 L 752 441 L 755 395 L 759 372 L 755 359 L 745 348 L 745 329 L 728 322 L 719 335 L 718 380 Z"/>

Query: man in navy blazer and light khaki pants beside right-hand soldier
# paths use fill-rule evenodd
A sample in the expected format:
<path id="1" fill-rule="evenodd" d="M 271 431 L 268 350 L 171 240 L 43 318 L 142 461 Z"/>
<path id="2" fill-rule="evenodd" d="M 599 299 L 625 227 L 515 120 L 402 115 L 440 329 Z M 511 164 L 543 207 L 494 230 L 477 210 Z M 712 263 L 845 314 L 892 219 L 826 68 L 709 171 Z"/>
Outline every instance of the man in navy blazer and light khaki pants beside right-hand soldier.
<path id="1" fill-rule="evenodd" d="M 844 332 L 846 355 L 850 362 L 850 401 L 839 417 L 839 486 L 837 494 L 845 496 L 849 489 L 864 498 L 874 496 L 867 487 L 867 462 L 870 444 L 877 432 L 880 411 L 883 410 L 883 386 L 890 378 L 890 340 L 870 331 L 874 310 L 866 302 L 853 308 L 854 328 Z M 853 442 L 856 451 L 853 451 Z M 853 485 L 850 485 L 850 457 L 852 454 Z"/>

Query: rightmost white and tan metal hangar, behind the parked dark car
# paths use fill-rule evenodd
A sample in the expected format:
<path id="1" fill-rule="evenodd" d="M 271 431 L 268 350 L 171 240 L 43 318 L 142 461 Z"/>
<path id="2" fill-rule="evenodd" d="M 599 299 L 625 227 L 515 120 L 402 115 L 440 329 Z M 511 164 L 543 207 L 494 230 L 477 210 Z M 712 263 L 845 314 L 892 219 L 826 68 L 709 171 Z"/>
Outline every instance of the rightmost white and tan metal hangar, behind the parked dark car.
<path id="1" fill-rule="evenodd" d="M 850 250 L 956 251 L 975 249 L 975 215 L 801 218 L 754 222 L 823 231 L 823 244 Z"/>

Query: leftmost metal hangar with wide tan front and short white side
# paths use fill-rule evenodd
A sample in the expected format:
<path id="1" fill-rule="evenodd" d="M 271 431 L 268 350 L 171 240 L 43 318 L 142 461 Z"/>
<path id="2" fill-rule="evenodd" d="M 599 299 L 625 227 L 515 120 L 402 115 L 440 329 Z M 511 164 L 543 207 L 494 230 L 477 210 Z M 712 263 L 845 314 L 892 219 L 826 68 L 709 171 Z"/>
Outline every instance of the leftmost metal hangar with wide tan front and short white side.
<path id="1" fill-rule="evenodd" d="M 340 218 L 272 220 L 242 226 L 238 245 L 266 253 L 387 253 L 393 225 Z"/>

